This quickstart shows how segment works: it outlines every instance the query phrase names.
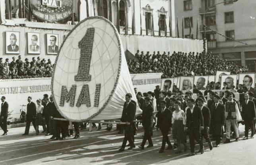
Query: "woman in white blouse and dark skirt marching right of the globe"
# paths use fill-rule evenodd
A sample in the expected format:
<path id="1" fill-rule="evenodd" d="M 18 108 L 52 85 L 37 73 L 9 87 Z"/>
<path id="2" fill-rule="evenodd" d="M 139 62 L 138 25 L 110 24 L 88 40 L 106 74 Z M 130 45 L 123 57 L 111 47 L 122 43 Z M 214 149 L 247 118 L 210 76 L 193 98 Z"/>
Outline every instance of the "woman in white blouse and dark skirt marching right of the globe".
<path id="1" fill-rule="evenodd" d="M 181 152 L 180 143 L 184 145 L 184 152 L 187 150 L 184 133 L 184 126 L 186 125 L 186 114 L 180 109 L 181 102 L 175 102 L 175 111 L 173 111 L 172 124 L 173 124 L 173 138 L 178 142 L 178 150 L 176 153 Z"/>

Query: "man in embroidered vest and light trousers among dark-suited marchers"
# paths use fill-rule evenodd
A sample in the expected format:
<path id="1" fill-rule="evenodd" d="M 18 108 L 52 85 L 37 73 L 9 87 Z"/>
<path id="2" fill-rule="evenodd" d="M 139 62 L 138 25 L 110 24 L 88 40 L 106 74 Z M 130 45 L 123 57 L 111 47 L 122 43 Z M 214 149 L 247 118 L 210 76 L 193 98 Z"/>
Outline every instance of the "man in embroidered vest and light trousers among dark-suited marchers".
<path id="1" fill-rule="evenodd" d="M 237 124 L 237 114 L 240 114 L 237 103 L 233 100 L 232 93 L 227 93 L 227 102 L 225 104 L 225 115 L 226 115 L 226 141 L 224 143 L 230 142 L 230 132 L 231 126 L 236 132 L 236 142 L 239 141 L 239 129 Z"/>

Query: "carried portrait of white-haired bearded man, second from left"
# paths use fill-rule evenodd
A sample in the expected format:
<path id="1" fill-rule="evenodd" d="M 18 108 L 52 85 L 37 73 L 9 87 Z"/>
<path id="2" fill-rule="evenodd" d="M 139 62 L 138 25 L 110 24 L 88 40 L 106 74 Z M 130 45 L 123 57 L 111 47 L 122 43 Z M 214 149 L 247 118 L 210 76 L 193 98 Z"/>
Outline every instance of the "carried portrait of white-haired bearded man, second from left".
<path id="1" fill-rule="evenodd" d="M 193 93 L 194 77 L 180 76 L 180 90 L 183 94 L 190 91 Z"/>

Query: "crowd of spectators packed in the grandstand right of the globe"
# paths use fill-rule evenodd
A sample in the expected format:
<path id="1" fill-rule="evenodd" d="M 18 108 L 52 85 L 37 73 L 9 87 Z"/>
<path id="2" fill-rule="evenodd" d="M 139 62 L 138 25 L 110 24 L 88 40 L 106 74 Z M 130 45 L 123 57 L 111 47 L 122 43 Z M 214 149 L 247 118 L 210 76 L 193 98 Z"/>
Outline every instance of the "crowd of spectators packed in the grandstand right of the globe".
<path id="1" fill-rule="evenodd" d="M 163 78 L 178 76 L 196 75 L 216 75 L 216 71 L 231 71 L 231 74 L 246 73 L 248 67 L 242 66 L 234 61 L 220 59 L 209 52 L 202 53 L 189 52 L 141 52 L 135 54 L 136 60 L 129 60 L 128 67 L 130 73 L 163 73 Z"/>

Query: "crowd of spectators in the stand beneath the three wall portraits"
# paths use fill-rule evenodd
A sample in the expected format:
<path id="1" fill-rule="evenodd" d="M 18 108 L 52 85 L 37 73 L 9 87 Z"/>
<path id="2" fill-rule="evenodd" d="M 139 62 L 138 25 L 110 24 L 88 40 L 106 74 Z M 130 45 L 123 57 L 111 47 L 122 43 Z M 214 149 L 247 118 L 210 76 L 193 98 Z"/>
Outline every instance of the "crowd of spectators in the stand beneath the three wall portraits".
<path id="1" fill-rule="evenodd" d="M 3 58 L 0 58 L 0 79 L 26 79 L 26 78 L 38 78 L 38 77 L 51 77 L 52 75 L 52 62 L 50 59 L 46 62 L 45 59 L 40 57 L 32 58 L 32 61 L 25 58 L 25 61 L 21 60 L 21 56 L 18 59 L 6 58 L 3 62 Z"/>

